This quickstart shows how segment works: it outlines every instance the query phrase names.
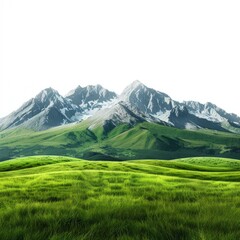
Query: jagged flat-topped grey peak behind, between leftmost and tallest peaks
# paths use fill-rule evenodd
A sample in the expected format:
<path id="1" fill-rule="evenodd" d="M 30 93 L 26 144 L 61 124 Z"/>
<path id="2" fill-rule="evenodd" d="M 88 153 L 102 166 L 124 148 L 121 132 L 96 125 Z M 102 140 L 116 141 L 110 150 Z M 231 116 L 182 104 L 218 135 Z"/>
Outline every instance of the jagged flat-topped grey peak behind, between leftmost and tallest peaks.
<path id="1" fill-rule="evenodd" d="M 70 91 L 66 98 L 80 106 L 85 115 L 93 115 L 97 110 L 109 106 L 117 98 L 117 94 L 101 85 L 89 85 L 83 88 L 78 86 Z"/>

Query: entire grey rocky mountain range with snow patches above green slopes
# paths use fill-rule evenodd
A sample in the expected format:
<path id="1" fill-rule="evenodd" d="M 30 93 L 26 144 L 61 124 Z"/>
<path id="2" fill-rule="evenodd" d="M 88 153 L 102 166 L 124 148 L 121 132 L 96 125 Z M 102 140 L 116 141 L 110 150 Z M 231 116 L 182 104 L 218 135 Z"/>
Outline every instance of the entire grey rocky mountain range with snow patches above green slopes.
<path id="1" fill-rule="evenodd" d="M 88 119 L 89 128 L 106 131 L 119 124 L 152 122 L 181 129 L 240 132 L 240 117 L 212 103 L 178 102 L 136 80 L 118 96 L 96 86 L 78 86 L 65 97 L 47 88 L 19 109 L 0 119 L 0 130 L 25 127 L 35 131 Z"/>

